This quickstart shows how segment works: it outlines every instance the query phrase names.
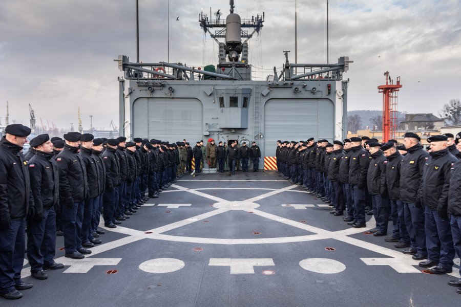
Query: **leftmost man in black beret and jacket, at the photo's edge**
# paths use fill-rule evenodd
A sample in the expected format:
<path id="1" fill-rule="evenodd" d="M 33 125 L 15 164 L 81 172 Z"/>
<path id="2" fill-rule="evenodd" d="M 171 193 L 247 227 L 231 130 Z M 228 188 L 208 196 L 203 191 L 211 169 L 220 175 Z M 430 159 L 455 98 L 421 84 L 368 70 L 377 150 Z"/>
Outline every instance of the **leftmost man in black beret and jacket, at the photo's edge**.
<path id="1" fill-rule="evenodd" d="M 18 290 L 32 288 L 21 279 L 26 251 L 26 215 L 34 216 L 29 170 L 22 152 L 30 128 L 12 124 L 0 141 L 0 295 L 23 297 Z"/>

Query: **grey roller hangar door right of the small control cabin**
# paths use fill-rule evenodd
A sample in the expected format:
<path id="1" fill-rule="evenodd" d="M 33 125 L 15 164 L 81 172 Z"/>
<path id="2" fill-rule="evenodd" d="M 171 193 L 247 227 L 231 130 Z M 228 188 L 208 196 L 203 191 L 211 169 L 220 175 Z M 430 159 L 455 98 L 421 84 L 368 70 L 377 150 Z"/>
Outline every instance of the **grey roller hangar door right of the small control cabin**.
<path id="1" fill-rule="evenodd" d="M 269 99 L 264 105 L 264 156 L 275 157 L 277 140 L 334 137 L 334 105 L 328 99 Z"/>

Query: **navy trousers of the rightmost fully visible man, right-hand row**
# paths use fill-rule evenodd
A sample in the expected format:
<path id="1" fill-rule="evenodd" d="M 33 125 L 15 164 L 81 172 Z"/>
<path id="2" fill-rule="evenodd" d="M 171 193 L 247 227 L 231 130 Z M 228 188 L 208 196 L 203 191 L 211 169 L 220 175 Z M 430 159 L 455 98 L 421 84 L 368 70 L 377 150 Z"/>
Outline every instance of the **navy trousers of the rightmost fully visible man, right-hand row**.
<path id="1" fill-rule="evenodd" d="M 438 262 L 444 269 L 453 267 L 455 249 L 451 234 L 450 220 L 441 218 L 437 210 L 425 208 L 425 230 L 427 259 Z"/>

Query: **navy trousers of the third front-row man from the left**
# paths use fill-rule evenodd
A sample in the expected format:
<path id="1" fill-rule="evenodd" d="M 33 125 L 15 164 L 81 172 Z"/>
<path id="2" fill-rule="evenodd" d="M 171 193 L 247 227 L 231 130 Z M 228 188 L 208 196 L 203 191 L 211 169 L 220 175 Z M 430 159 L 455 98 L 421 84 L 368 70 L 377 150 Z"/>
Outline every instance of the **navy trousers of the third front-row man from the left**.
<path id="1" fill-rule="evenodd" d="M 73 254 L 81 247 L 81 224 L 84 202 L 74 202 L 72 207 L 62 206 L 62 231 L 64 231 L 64 248 L 66 254 Z"/>

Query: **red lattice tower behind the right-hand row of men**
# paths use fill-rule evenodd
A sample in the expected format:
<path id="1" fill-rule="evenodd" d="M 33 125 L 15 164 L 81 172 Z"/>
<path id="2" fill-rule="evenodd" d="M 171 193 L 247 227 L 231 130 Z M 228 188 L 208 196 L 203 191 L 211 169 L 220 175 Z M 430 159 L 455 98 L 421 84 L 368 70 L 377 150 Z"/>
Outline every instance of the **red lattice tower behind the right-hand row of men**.
<path id="1" fill-rule="evenodd" d="M 385 72 L 386 84 L 378 86 L 380 93 L 383 93 L 383 143 L 395 139 L 397 131 L 397 92 L 402 87 L 400 77 L 397 77 L 397 84 Z"/>

